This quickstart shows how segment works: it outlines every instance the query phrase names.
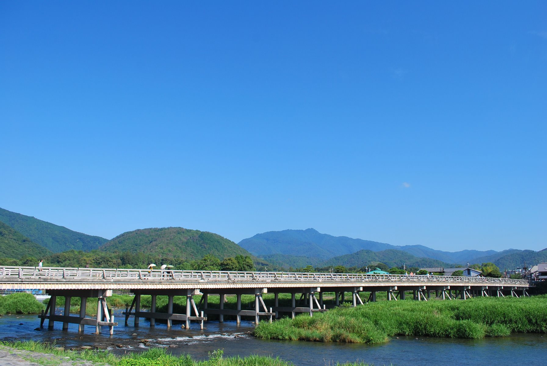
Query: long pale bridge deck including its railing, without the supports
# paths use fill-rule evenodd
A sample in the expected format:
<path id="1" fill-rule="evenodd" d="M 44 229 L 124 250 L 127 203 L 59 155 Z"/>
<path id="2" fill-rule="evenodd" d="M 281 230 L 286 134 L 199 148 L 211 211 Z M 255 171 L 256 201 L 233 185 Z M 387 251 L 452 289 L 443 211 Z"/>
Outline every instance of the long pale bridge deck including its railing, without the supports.
<path id="1" fill-rule="evenodd" d="M 244 289 L 405 286 L 510 286 L 526 280 L 428 275 L 365 275 L 298 272 L 177 271 L 97 268 L 0 267 L 0 289 Z"/>

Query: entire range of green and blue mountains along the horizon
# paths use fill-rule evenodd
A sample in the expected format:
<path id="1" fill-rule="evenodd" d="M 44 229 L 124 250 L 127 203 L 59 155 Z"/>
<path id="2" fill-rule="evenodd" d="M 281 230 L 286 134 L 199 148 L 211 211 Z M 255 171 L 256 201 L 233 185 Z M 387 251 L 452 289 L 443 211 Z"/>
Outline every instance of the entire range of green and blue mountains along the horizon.
<path id="1" fill-rule="evenodd" d="M 138 229 L 107 240 L 0 208 L 0 258 L 14 258 L 15 262 L 22 257 L 40 258 L 69 250 L 102 253 L 96 255 L 102 260 L 108 257 L 104 253 L 117 252 L 144 253 L 147 258 L 154 256 L 181 262 L 201 259 L 205 254 L 213 254 L 221 260 L 237 254 L 252 254 L 256 256 L 253 260 L 260 268 L 286 270 L 307 265 L 316 268 L 337 265 L 361 268 L 376 262 L 388 266 L 405 263 L 417 267 L 492 262 L 503 270 L 519 268 L 525 262 L 528 266 L 547 262 L 547 249 L 538 252 L 519 249 L 502 252 L 445 252 L 422 245 L 394 246 L 332 236 L 321 234 L 315 229 L 269 231 L 244 239 L 238 244 L 214 233 L 184 228 Z M 58 257 L 60 254 L 54 255 Z M 71 252 L 66 257 L 82 255 Z M 59 258 L 56 260 L 59 262 Z M 87 263 L 104 262 L 90 259 Z"/>

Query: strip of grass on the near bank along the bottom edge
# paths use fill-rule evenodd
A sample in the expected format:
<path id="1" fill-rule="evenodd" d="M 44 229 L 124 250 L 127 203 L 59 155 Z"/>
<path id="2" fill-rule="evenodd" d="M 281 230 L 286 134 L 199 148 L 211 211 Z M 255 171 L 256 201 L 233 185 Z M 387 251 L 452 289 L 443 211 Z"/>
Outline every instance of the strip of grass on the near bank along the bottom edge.
<path id="1" fill-rule="evenodd" d="M 223 357 L 222 350 L 210 352 L 209 359 L 206 361 L 195 361 L 189 355 L 172 356 L 165 348 L 150 348 L 142 353 L 131 353 L 130 355 L 116 356 L 108 351 L 66 351 L 62 347 L 44 344 L 34 341 L 26 342 L 0 342 L 0 348 L 15 348 L 35 352 L 38 355 L 28 357 L 28 361 L 37 362 L 44 365 L 60 365 L 62 362 L 71 361 L 75 364 L 82 361 L 90 361 L 92 364 L 106 364 L 112 366 L 294 366 L 293 363 L 283 361 L 276 357 L 248 356 L 248 357 Z M 39 355 L 49 354 L 55 357 L 47 359 L 40 358 Z M 29 359 L 30 358 L 30 359 Z M 325 365 L 327 362 L 325 362 Z M 361 362 L 353 363 L 328 363 L 329 366 L 368 366 Z M 319 366 L 319 365 L 318 365 Z"/>

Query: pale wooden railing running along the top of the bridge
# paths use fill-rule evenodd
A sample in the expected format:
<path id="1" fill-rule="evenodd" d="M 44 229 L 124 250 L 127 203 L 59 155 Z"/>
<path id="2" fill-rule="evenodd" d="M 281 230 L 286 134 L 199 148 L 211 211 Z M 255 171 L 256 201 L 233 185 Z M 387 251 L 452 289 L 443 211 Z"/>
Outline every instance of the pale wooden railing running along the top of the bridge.
<path id="1" fill-rule="evenodd" d="M 527 280 L 488 277 L 455 277 L 430 275 L 366 275 L 351 273 L 306 272 L 238 272 L 238 271 L 182 271 L 170 269 L 122 269 L 122 268 L 59 268 L 0 266 L 0 278 L 43 278 L 73 280 L 170 280 L 170 281 L 306 281 L 306 282 L 438 282 L 477 284 L 527 284 Z"/>

